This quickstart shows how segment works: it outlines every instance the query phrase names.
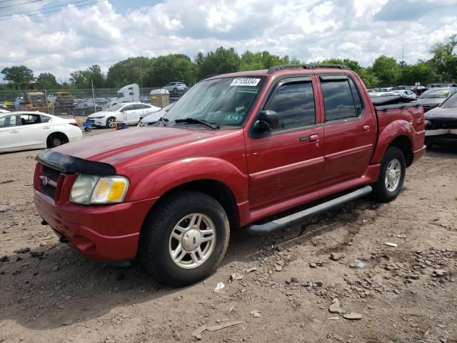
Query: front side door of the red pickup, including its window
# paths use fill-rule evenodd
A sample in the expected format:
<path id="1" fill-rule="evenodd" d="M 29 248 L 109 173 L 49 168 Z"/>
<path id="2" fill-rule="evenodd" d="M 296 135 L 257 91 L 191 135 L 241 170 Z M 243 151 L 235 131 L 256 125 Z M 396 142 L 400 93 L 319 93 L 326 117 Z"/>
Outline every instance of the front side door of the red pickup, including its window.
<path id="1" fill-rule="evenodd" d="M 310 77 L 283 79 L 263 109 L 276 111 L 271 132 L 246 130 L 251 210 L 313 192 L 323 172 L 323 128 Z"/>

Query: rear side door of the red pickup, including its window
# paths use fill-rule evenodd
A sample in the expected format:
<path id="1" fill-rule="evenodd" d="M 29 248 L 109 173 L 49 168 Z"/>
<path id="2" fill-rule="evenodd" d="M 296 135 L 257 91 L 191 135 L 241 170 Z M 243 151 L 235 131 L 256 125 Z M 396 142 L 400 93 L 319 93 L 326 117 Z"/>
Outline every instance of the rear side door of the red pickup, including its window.
<path id="1" fill-rule="evenodd" d="M 376 117 L 348 76 L 320 76 L 325 166 L 321 187 L 361 177 L 376 144 Z"/>

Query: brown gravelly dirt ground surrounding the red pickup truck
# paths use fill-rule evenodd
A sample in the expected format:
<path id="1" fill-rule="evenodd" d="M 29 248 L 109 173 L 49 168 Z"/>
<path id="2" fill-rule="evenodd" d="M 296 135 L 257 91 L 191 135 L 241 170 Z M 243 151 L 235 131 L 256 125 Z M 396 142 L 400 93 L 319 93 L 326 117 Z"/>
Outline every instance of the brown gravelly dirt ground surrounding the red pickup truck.
<path id="1" fill-rule="evenodd" d="M 34 207 L 37 153 L 0 155 L 0 342 L 194 342 L 205 327 L 201 342 L 457 342 L 457 149 L 428 151 L 390 204 L 233 232 L 218 271 L 183 289 L 58 244 Z"/>

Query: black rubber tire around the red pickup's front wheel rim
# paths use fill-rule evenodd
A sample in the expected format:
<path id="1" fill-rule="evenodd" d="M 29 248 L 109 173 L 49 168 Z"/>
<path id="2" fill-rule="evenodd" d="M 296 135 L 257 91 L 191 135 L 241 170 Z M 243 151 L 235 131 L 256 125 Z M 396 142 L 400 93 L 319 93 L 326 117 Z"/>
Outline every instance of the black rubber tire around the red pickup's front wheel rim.
<path id="1" fill-rule="evenodd" d="M 183 219 L 192 214 L 204 214 L 209 217 L 214 223 L 216 238 L 212 243 L 214 244 L 212 252 L 204 262 L 191 269 L 186 269 L 180 267 L 171 257 L 171 235 L 176 232 L 175 226 L 185 222 Z M 184 235 L 186 233 L 183 233 L 183 237 Z M 184 191 L 163 199 L 158 207 L 148 215 L 141 231 L 139 257 L 146 270 L 156 275 L 159 281 L 183 287 L 204 279 L 216 269 L 226 254 L 229 236 L 229 219 L 221 204 L 204 193 Z M 194 239 L 193 242 L 195 244 L 196 240 Z M 184 241 L 182 243 L 181 247 L 184 247 Z M 205 250 L 206 243 L 201 243 L 199 247 L 203 247 L 201 249 Z M 184 249 L 181 249 L 184 254 Z M 191 259 L 190 255 L 189 259 Z"/>

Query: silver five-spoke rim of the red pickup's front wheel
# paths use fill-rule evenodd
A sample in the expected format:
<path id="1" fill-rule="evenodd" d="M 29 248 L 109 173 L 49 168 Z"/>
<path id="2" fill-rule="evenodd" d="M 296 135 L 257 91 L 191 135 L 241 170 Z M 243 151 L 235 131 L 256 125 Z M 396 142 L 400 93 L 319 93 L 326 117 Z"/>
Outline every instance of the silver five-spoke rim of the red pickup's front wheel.
<path id="1" fill-rule="evenodd" d="M 216 247 L 214 222 L 203 213 L 183 217 L 171 230 L 169 254 L 181 268 L 193 269 L 209 259 Z"/>

